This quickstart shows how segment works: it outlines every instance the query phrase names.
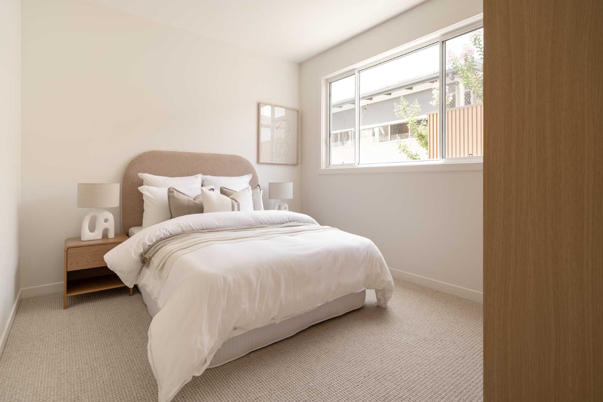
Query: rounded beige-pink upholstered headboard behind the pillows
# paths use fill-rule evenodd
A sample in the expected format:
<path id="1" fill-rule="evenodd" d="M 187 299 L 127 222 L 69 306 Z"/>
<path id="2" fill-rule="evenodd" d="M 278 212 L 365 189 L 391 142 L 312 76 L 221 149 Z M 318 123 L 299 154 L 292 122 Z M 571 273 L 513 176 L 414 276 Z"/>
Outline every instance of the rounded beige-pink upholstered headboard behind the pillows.
<path id="1" fill-rule="evenodd" d="M 242 156 L 204 154 L 200 152 L 147 151 L 133 157 L 125 165 L 121 178 L 121 230 L 127 234 L 131 227 L 142 226 L 142 186 L 139 173 L 182 177 L 196 174 L 210 176 L 242 176 L 253 174 L 251 187 L 256 186 L 257 173 Z"/>

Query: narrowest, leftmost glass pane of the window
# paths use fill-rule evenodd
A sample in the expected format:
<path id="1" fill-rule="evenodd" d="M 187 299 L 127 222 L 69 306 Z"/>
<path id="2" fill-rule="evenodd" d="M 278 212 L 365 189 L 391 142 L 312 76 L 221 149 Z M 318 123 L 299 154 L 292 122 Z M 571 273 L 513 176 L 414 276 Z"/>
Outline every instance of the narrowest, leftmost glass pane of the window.
<path id="1" fill-rule="evenodd" d="M 330 164 L 355 163 L 356 77 L 330 83 Z"/>

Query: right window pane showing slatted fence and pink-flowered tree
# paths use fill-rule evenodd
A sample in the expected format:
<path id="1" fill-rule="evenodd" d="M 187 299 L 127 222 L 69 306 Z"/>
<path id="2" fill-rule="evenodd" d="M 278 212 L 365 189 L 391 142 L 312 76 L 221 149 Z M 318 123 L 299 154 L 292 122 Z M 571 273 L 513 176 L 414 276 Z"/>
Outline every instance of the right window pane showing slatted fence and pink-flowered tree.
<path id="1" fill-rule="evenodd" d="M 484 28 L 444 42 L 446 158 L 484 155 Z"/>

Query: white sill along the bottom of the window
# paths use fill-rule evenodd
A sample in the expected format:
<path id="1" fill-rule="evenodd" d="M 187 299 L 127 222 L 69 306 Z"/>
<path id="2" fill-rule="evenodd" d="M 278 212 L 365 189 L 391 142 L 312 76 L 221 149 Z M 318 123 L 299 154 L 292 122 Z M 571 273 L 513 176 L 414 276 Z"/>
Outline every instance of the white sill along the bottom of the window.
<path id="1" fill-rule="evenodd" d="M 441 160 L 433 162 L 406 162 L 404 165 L 330 165 L 321 168 L 319 174 L 342 174 L 342 173 L 392 173 L 392 172 L 443 172 L 443 171 L 481 171 L 484 170 L 484 160 L 465 160 L 463 162 L 444 162 Z"/>

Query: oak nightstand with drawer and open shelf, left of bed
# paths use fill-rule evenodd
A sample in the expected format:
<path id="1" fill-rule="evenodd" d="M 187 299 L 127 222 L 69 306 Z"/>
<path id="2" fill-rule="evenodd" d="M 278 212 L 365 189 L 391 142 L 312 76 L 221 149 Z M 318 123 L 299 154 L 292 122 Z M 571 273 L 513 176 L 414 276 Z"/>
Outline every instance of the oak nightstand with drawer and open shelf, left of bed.
<path id="1" fill-rule="evenodd" d="M 65 239 L 63 309 L 67 308 L 68 296 L 125 286 L 118 275 L 107 268 L 103 256 L 127 239 L 128 236 L 121 233 L 116 234 L 113 239 L 107 237 L 87 241 L 82 241 L 80 237 Z"/>

